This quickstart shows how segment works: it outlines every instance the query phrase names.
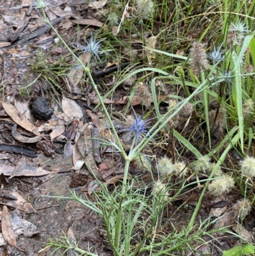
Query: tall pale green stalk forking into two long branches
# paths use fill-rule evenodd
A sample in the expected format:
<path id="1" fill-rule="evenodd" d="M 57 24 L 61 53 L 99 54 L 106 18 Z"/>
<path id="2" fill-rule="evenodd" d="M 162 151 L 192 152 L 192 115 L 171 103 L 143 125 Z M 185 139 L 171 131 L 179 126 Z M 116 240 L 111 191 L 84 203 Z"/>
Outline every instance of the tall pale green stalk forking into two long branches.
<path id="1" fill-rule="evenodd" d="M 115 139 L 117 141 L 117 146 L 119 147 L 120 153 L 122 154 L 122 156 L 125 160 L 124 177 L 123 177 L 122 188 L 121 188 L 120 197 L 119 197 L 119 206 L 118 206 L 118 209 L 116 209 L 117 214 L 116 214 L 116 219 L 115 219 L 115 227 L 114 227 L 115 232 L 114 232 L 114 237 L 113 237 L 113 243 L 112 243 L 112 239 L 110 239 L 109 234 L 108 234 L 108 239 L 111 240 L 110 245 L 112 246 L 114 255 L 115 256 L 120 256 L 120 252 L 118 252 L 117 248 L 119 248 L 119 246 L 120 246 L 120 238 L 122 237 L 121 236 L 122 235 L 122 213 L 123 213 L 122 207 L 123 207 L 124 199 L 127 195 L 127 181 L 128 181 L 129 164 L 132 160 L 134 160 L 135 158 L 137 158 L 139 156 L 140 152 L 143 150 L 143 148 L 145 146 L 147 146 L 147 144 L 149 144 L 150 140 L 152 140 L 156 136 L 156 134 L 159 133 L 161 131 L 161 129 L 163 129 L 164 126 L 166 126 L 166 124 L 170 121 L 170 119 L 172 119 L 175 115 L 177 115 L 180 112 L 182 107 L 184 107 L 184 105 L 186 105 L 186 103 L 189 102 L 189 100 L 191 100 L 191 98 L 193 98 L 194 95 L 196 95 L 198 93 L 201 93 L 201 91 L 203 91 L 207 88 L 207 81 L 205 80 L 200 86 L 198 86 L 194 90 L 194 92 L 192 94 L 190 94 L 185 100 L 183 100 L 182 102 L 177 104 L 174 109 L 171 109 L 166 114 L 164 114 L 164 116 L 159 118 L 157 123 L 154 124 L 154 126 L 150 129 L 149 132 L 151 132 L 152 134 L 150 135 L 149 138 L 144 137 L 138 145 L 135 145 L 135 141 L 136 141 L 136 135 L 135 135 L 135 139 L 133 139 L 133 145 L 131 147 L 131 150 L 129 151 L 129 154 L 126 154 L 126 152 L 124 151 L 124 148 L 122 147 L 122 143 L 120 142 L 119 136 L 117 135 L 117 131 L 115 130 L 115 127 L 112 123 L 112 119 L 111 119 L 110 115 L 108 114 L 108 111 L 105 107 L 105 104 L 103 102 L 103 98 L 99 94 L 98 87 L 96 86 L 96 84 L 95 84 L 95 82 L 92 78 L 89 64 L 87 64 L 87 66 L 85 66 L 84 63 L 82 63 L 82 61 L 80 61 L 80 59 L 68 47 L 66 42 L 61 38 L 59 33 L 57 33 L 57 31 L 54 29 L 54 27 L 52 26 L 52 24 L 48 20 L 47 16 L 45 15 L 45 11 L 44 11 L 43 7 L 41 7 L 41 11 L 43 13 L 43 18 L 45 19 L 45 22 L 47 22 L 48 26 L 50 26 L 52 31 L 54 31 L 54 33 L 57 34 L 59 40 L 63 43 L 63 45 L 66 47 L 66 49 L 68 49 L 68 51 L 76 59 L 76 61 L 80 64 L 80 66 L 82 66 L 82 68 L 84 69 L 84 72 L 88 75 L 89 80 L 91 81 L 92 87 L 93 87 L 94 91 L 96 92 L 96 94 L 98 96 L 101 107 L 103 108 L 105 116 L 107 117 L 107 119 L 110 123 L 110 126 L 112 128 L 112 132 L 113 132 L 113 135 L 115 136 Z M 142 70 L 144 70 L 144 68 L 141 69 L 140 72 Z M 139 70 L 136 70 L 136 72 L 138 72 L 138 71 Z M 152 94 L 154 94 L 153 97 L 154 97 L 154 99 L 156 99 L 155 92 L 152 91 Z M 175 110 L 175 111 L 173 112 L 173 110 Z M 156 130 L 154 130 L 157 126 L 158 126 L 158 128 Z M 73 198 L 70 198 L 70 199 L 73 199 Z M 82 199 L 79 199 L 78 197 L 77 197 L 77 199 L 78 199 L 79 202 L 82 202 Z M 77 200 L 77 199 L 75 199 L 75 200 Z M 83 202 L 83 204 L 84 204 L 84 202 Z M 85 205 L 89 206 L 89 204 L 86 204 L 86 203 L 85 203 Z M 90 208 L 95 210 L 95 207 L 93 207 L 93 206 L 90 206 Z M 99 215 L 103 216 L 103 211 L 98 209 L 97 212 L 99 213 Z M 158 211 L 156 211 L 156 212 L 159 214 Z M 193 217 L 194 217 L 194 215 L 193 215 Z M 141 249 L 141 246 L 143 245 L 143 243 L 145 243 L 145 239 L 147 239 L 150 232 L 154 228 L 154 225 L 156 225 L 156 221 L 157 221 L 157 216 L 154 216 L 152 218 L 151 229 L 148 230 L 148 232 L 143 237 L 142 241 L 137 246 L 135 252 L 131 253 L 131 255 L 136 255 L 136 253 L 139 253 L 139 251 Z M 130 243 L 130 241 L 124 241 L 124 243 Z M 129 255 L 129 252 L 124 252 L 124 254 Z"/>

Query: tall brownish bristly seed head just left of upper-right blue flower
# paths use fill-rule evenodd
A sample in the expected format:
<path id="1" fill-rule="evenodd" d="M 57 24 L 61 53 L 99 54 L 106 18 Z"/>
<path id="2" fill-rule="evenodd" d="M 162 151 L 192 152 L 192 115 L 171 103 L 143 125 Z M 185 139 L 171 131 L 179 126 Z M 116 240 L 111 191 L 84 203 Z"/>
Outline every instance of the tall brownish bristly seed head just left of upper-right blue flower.
<path id="1" fill-rule="evenodd" d="M 193 75 L 196 75 L 196 77 L 200 77 L 201 71 L 208 69 L 208 59 L 207 59 L 207 54 L 205 52 L 205 43 L 194 41 L 190 52 L 191 52 L 191 60 L 190 60 L 191 70 L 193 72 Z"/>

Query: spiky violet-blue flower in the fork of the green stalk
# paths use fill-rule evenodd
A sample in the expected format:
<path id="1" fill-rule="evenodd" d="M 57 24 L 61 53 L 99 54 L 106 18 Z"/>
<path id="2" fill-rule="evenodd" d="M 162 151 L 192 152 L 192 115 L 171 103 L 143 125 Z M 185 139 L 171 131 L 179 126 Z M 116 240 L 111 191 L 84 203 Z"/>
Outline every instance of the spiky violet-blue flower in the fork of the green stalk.
<path id="1" fill-rule="evenodd" d="M 129 131 L 129 133 L 135 133 L 135 137 L 136 137 L 136 144 L 138 142 L 138 140 L 140 139 L 140 136 L 143 134 L 145 136 L 148 136 L 148 130 L 147 130 L 147 124 L 149 124 L 152 119 L 148 119 L 146 121 L 143 121 L 142 117 L 140 116 L 138 117 L 136 115 L 135 110 L 133 109 L 133 107 L 131 106 L 131 109 L 133 110 L 134 114 L 135 114 L 135 120 L 133 121 L 133 123 L 131 124 L 131 126 L 126 126 L 121 128 L 118 132 L 126 132 Z"/>

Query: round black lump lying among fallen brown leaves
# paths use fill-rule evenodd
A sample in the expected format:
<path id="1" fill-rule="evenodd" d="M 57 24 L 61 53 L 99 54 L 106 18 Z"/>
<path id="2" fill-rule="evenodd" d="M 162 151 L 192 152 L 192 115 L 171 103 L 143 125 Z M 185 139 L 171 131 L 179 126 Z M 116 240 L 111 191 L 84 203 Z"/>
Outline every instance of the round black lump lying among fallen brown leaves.
<path id="1" fill-rule="evenodd" d="M 43 97 L 38 97 L 32 105 L 32 114 L 39 120 L 48 121 L 53 114 L 53 109 L 50 107 L 50 102 Z"/>

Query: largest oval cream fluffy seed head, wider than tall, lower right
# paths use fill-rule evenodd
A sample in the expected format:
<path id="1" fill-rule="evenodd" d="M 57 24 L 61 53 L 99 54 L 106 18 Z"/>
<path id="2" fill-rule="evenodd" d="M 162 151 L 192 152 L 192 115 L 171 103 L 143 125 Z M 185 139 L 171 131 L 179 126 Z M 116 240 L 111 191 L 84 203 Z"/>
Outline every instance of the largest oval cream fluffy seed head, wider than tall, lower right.
<path id="1" fill-rule="evenodd" d="M 235 184 L 234 179 L 224 174 L 223 176 L 221 176 L 221 178 L 215 179 L 214 181 L 212 181 L 212 183 L 210 183 L 208 186 L 208 190 L 210 194 L 214 195 L 215 197 L 218 197 L 223 193 L 230 192 L 234 184 Z"/>

